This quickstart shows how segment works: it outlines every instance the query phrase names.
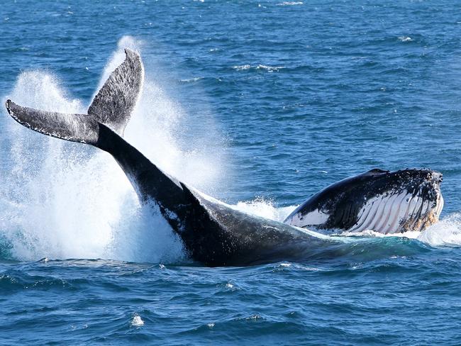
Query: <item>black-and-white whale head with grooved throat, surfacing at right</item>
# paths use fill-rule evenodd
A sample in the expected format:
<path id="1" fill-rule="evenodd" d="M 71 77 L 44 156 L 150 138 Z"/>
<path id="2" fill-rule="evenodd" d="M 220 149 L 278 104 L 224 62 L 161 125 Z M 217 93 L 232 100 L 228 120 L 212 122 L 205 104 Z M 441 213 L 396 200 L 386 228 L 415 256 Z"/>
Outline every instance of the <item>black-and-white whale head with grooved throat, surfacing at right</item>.
<path id="1" fill-rule="evenodd" d="M 318 192 L 284 222 L 349 232 L 424 230 L 442 211 L 442 180 L 442 174 L 431 169 L 371 169 Z"/>

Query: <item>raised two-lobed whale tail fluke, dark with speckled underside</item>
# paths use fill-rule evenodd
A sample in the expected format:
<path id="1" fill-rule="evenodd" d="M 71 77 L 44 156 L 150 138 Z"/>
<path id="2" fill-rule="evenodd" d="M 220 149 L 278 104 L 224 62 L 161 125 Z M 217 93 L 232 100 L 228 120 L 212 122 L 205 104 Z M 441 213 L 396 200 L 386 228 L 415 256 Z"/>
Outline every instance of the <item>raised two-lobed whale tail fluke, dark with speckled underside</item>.
<path id="1" fill-rule="evenodd" d="M 99 147 L 99 125 L 123 136 L 143 89 L 144 68 L 140 55 L 125 50 L 126 58 L 106 80 L 88 108 L 88 114 L 40 111 L 6 101 L 10 116 L 21 125 L 52 137 Z"/>

